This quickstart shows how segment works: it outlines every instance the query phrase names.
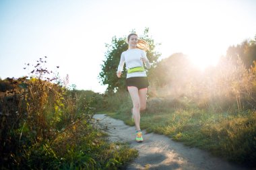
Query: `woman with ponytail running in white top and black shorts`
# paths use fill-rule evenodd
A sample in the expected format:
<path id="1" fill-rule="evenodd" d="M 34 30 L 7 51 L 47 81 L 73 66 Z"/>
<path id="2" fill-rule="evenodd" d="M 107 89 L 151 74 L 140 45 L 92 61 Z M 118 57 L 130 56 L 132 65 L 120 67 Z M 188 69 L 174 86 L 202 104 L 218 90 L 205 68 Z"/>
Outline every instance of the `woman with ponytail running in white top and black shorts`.
<path id="1" fill-rule="evenodd" d="M 121 77 L 123 65 L 126 64 L 127 79 L 126 85 L 133 101 L 133 119 L 136 127 L 136 141 L 143 142 L 142 132 L 139 126 L 140 111 L 146 110 L 146 94 L 148 90 L 148 77 L 143 67 L 150 69 L 150 62 L 146 56 L 148 44 L 143 40 L 138 40 L 137 34 L 129 34 L 127 37 L 129 49 L 122 52 L 117 77 Z"/>

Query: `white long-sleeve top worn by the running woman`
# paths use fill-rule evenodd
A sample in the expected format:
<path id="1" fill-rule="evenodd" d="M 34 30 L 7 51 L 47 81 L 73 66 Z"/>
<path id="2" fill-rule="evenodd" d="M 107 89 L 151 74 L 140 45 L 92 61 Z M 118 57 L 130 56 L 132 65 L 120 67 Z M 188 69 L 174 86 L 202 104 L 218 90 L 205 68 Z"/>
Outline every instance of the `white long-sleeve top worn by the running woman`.
<path id="1" fill-rule="evenodd" d="M 141 58 L 146 58 L 145 66 L 150 69 L 150 61 L 147 58 L 147 54 L 144 50 L 139 48 L 130 49 L 122 52 L 119 67 L 117 71 L 123 71 L 123 65 L 126 65 L 126 69 L 131 69 L 133 67 L 143 67 L 143 62 Z M 127 77 L 147 77 L 146 71 L 127 73 Z"/>

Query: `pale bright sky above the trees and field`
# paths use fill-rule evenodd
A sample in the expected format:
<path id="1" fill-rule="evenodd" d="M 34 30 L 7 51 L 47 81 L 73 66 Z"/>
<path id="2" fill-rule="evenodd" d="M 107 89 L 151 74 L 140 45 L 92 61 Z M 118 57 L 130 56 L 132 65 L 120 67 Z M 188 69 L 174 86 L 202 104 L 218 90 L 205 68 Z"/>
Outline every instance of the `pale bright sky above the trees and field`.
<path id="1" fill-rule="evenodd" d="M 28 75 L 24 64 L 47 56 L 46 67 L 69 75 L 69 85 L 104 93 L 105 44 L 145 28 L 161 43 L 160 59 L 183 52 L 203 69 L 255 38 L 256 1 L 0 0 L 0 77 Z"/>

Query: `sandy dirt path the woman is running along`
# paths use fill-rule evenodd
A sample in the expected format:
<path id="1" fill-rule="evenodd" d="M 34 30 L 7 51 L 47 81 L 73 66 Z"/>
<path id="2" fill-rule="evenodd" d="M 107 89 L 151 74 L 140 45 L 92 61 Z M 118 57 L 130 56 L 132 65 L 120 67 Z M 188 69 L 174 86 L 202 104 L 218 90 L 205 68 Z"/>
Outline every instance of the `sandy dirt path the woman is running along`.
<path id="1" fill-rule="evenodd" d="M 104 114 L 95 114 L 102 129 L 109 134 L 110 141 L 128 142 L 139 151 L 139 157 L 127 169 L 246 169 L 231 165 L 198 148 L 190 148 L 181 142 L 174 142 L 167 136 L 146 134 L 144 142 L 135 142 L 135 126 L 127 126 L 121 120 L 110 118 Z"/>

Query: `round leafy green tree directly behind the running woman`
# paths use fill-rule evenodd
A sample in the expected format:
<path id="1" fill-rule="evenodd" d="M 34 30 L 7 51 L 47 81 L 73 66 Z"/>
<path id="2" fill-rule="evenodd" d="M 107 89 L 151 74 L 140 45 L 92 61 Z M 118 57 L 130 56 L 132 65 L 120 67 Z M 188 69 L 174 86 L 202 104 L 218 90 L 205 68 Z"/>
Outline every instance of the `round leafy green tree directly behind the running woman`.
<path id="1" fill-rule="evenodd" d="M 148 36 L 149 28 L 145 28 L 143 35 L 139 36 L 139 39 L 146 40 L 150 46 L 150 50 L 147 51 L 147 56 L 152 66 L 156 65 L 156 62 L 161 55 L 160 52 L 155 52 L 154 48 L 157 45 L 154 40 Z M 134 30 L 131 33 L 135 33 Z M 101 72 L 99 75 L 100 81 L 103 85 L 108 85 L 106 91 L 114 92 L 125 89 L 125 79 L 126 72 L 123 71 L 121 79 L 117 78 L 117 67 L 119 65 L 119 60 L 123 51 L 128 49 L 127 38 L 125 36 L 117 38 L 114 36 L 112 38 L 111 44 L 106 44 L 105 60 L 103 60 L 103 65 L 101 65 Z M 124 66 L 125 68 L 125 66 Z M 148 70 L 150 71 L 150 69 Z"/>

